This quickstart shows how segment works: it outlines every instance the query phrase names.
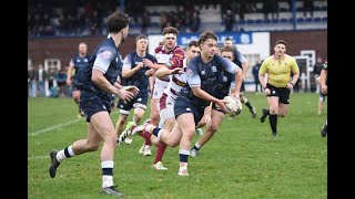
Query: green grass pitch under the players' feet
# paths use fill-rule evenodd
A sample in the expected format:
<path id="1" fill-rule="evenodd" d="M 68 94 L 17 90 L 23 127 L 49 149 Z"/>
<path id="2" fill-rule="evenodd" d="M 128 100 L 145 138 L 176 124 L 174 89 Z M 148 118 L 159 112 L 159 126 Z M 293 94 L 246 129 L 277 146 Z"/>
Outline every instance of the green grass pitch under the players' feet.
<path id="1" fill-rule="evenodd" d="M 121 144 L 114 159 L 114 184 L 126 198 L 326 198 L 327 138 L 321 137 L 326 119 L 317 115 L 318 94 L 293 93 L 288 115 L 278 118 L 278 138 L 268 119 L 260 122 L 266 107 L 262 94 L 245 93 L 257 109 L 252 118 L 246 106 L 235 119 L 225 116 L 219 132 L 189 158 L 189 177 L 178 176 L 179 147 L 168 147 L 166 171 L 152 169 L 154 156 L 138 154 L 143 139 Z M 63 149 L 84 138 L 84 119 L 77 118 L 72 98 L 28 100 L 28 198 L 111 198 L 99 195 L 100 153 L 65 159 L 50 178 L 51 149 Z M 149 109 L 149 107 L 148 107 Z M 112 111 L 115 123 L 118 109 Z M 144 118 L 149 116 L 149 111 Z M 195 135 L 193 144 L 199 138 Z M 152 147 L 154 155 L 156 147 Z"/>

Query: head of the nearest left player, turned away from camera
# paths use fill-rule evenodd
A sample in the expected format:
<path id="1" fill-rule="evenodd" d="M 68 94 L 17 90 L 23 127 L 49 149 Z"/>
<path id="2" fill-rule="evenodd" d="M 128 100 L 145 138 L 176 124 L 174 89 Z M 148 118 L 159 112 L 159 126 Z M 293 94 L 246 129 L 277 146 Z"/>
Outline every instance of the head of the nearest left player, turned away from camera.
<path id="1" fill-rule="evenodd" d="M 124 42 L 129 33 L 129 15 L 121 11 L 115 11 L 106 19 L 109 33 L 121 35 L 121 42 Z"/>

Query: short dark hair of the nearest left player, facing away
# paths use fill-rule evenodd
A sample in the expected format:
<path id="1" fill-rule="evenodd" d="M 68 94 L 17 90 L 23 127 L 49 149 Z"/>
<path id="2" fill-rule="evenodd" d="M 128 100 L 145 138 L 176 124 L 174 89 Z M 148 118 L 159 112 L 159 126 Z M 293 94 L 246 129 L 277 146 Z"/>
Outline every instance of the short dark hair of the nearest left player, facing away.
<path id="1" fill-rule="evenodd" d="M 124 29 L 130 22 L 130 18 L 126 13 L 121 11 L 114 11 L 106 19 L 106 25 L 109 32 L 118 33 Z"/>

